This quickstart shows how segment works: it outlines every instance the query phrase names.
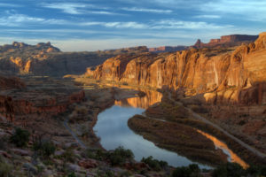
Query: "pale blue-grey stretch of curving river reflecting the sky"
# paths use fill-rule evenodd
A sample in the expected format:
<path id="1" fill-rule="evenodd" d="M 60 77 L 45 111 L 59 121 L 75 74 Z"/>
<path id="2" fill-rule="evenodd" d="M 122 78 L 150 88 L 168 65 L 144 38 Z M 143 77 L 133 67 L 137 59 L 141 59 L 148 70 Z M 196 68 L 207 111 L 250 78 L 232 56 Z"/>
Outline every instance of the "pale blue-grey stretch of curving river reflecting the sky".
<path id="1" fill-rule="evenodd" d="M 129 129 L 128 119 L 144 111 L 144 109 L 140 108 L 113 105 L 113 107 L 105 112 L 101 112 L 98 115 L 98 122 L 93 128 L 96 135 L 100 137 L 101 145 L 106 150 L 114 150 L 119 146 L 123 146 L 126 149 L 132 150 L 135 159 L 138 161 L 143 157 L 153 156 L 153 158 L 167 161 L 169 165 L 173 166 L 194 163 L 175 152 L 158 148 L 153 142 L 145 140 L 141 135 L 137 135 Z M 200 167 L 210 168 L 207 165 L 200 165 Z"/>

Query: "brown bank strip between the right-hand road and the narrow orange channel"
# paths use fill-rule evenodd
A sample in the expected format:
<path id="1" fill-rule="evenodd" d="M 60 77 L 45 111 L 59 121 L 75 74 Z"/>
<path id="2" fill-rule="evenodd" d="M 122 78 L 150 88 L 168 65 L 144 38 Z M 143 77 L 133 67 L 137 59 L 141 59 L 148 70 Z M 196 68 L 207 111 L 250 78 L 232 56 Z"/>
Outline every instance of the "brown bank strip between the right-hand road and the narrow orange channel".
<path id="1" fill-rule="evenodd" d="M 174 109 L 176 108 L 176 109 Z M 247 150 L 239 142 L 234 141 L 228 135 L 224 135 L 219 129 L 208 125 L 207 123 L 195 119 L 190 108 L 184 107 L 182 104 L 176 104 L 173 99 L 169 99 L 168 92 L 165 93 L 162 102 L 148 108 L 145 115 L 154 119 L 163 119 L 169 122 L 175 122 L 189 127 L 198 128 L 210 135 L 214 135 L 218 139 L 225 142 L 228 147 L 250 164 L 262 165 L 264 159 L 257 157 L 253 152 Z"/>

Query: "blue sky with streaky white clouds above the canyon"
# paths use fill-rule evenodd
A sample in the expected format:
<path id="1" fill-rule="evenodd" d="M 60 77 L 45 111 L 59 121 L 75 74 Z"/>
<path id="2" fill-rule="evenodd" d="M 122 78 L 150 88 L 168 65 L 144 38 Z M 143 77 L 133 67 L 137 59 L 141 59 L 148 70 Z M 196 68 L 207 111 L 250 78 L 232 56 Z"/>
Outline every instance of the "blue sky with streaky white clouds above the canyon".
<path id="1" fill-rule="evenodd" d="M 265 0 L 1 0 L 0 43 L 64 51 L 191 45 L 266 31 Z"/>

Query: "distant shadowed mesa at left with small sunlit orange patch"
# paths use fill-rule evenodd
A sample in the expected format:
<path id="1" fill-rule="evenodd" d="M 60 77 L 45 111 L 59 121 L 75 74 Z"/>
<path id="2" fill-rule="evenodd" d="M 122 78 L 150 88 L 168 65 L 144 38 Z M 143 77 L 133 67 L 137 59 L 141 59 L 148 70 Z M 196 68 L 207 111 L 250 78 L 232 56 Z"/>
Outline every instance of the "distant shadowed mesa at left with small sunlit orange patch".
<path id="1" fill-rule="evenodd" d="M 84 73 L 87 67 L 102 64 L 115 55 L 144 51 L 148 51 L 145 46 L 95 52 L 61 52 L 51 42 L 36 45 L 13 42 L 0 46 L 0 72 L 54 76 L 79 74 Z"/>

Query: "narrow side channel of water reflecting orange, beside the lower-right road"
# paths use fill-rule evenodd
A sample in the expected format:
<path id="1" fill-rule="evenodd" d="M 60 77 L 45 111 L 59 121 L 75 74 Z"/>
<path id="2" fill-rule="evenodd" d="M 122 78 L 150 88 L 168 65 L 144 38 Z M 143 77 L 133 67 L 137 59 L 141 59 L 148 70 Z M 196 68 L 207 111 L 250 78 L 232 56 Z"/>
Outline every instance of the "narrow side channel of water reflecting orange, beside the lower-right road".
<path id="1" fill-rule="evenodd" d="M 200 130 L 198 130 L 198 132 L 201 134 L 201 135 L 204 135 L 207 137 L 207 139 L 211 140 L 212 142 L 214 142 L 215 144 L 215 147 L 217 149 L 221 149 L 223 150 L 223 152 L 228 155 L 228 160 L 230 162 L 234 162 L 234 163 L 237 163 L 239 165 L 241 165 L 243 168 L 247 168 L 249 165 L 246 164 L 246 162 L 244 162 L 241 158 L 239 158 L 239 156 L 237 154 L 235 154 L 233 151 L 231 151 L 228 146 L 224 143 L 224 142 L 221 142 L 220 140 L 218 140 L 217 138 L 215 138 L 215 136 L 212 136 L 212 135 L 208 135 L 207 133 L 204 133 Z"/>

